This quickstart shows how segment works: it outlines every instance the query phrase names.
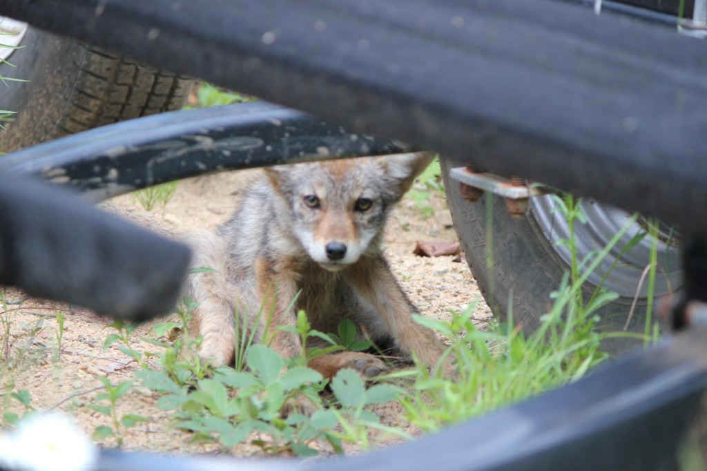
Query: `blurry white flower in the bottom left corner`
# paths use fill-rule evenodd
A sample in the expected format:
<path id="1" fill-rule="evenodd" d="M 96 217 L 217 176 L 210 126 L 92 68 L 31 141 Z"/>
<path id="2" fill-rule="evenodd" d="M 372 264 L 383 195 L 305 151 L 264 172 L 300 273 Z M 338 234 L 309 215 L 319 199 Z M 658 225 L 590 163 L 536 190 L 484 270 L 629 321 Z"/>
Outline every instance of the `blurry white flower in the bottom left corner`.
<path id="1" fill-rule="evenodd" d="M 0 436 L 0 468 L 13 471 L 89 471 L 98 448 L 61 414 L 31 417 Z"/>

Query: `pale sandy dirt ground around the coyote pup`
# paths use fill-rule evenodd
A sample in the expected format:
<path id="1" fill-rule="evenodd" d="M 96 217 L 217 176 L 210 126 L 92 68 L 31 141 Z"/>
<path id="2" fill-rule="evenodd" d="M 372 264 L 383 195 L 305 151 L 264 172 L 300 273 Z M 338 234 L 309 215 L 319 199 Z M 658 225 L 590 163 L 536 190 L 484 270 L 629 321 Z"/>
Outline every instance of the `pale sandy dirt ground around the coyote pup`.
<path id="1" fill-rule="evenodd" d="M 238 189 L 247 178 L 252 178 L 252 171 L 184 180 L 164 209 L 146 211 L 131 195 L 117 197 L 101 207 L 178 239 L 194 228 L 213 227 L 225 221 L 238 202 Z M 428 205 L 431 211 L 421 211 L 411 199 L 404 199 L 387 226 L 385 250 L 404 290 L 420 312 L 430 318 L 448 318 L 450 310 L 464 310 L 481 296 L 463 257 L 462 262 L 455 262 L 452 256 L 413 255 L 418 240 L 456 240 L 444 200 L 436 196 Z M 432 214 L 423 217 L 426 213 Z M 0 313 L 0 361 L 4 363 L 0 369 L 0 415 L 21 414 L 23 407 L 11 397 L 11 392 L 25 389 L 30 392 L 35 409 L 58 409 L 71 414 L 86 434 L 92 434 L 97 426 L 110 425 L 108 417 L 86 407 L 101 392 L 98 378 L 105 376 L 115 384 L 132 378 L 139 368 L 117 349 L 117 344 L 102 348 L 106 337 L 115 332 L 108 327 L 110 320 L 77 306 L 25 299 L 24 293 L 17 290 L 7 290 L 6 298 L 13 304 Z M 62 313 L 66 314 L 66 320 L 59 346 L 56 316 Z M 483 301 L 473 317 L 479 322 L 492 318 Z M 156 347 L 139 339 L 155 337 L 151 325 L 139 327 L 133 335 L 132 347 L 137 351 L 156 351 Z M 124 449 L 167 453 L 216 450 L 214 446 L 190 443 L 191 434 L 170 426 L 170 413 L 160 411 L 157 400 L 155 393 L 139 383 L 120 400 L 120 414 L 129 412 L 151 418 L 127 431 Z M 386 424 L 406 425 L 399 405 L 380 406 L 375 412 Z M 113 438 L 99 443 L 115 446 Z M 252 453 L 246 447 L 234 451 L 239 455 Z"/>

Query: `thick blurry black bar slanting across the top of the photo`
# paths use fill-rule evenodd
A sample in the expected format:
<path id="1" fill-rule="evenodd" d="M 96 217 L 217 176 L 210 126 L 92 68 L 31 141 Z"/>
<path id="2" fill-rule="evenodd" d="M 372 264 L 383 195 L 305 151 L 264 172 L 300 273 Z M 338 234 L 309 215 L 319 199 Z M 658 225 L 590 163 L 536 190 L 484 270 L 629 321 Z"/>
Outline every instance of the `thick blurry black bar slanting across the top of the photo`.
<path id="1" fill-rule="evenodd" d="M 0 0 L 141 62 L 707 233 L 707 48 L 556 0 Z"/>

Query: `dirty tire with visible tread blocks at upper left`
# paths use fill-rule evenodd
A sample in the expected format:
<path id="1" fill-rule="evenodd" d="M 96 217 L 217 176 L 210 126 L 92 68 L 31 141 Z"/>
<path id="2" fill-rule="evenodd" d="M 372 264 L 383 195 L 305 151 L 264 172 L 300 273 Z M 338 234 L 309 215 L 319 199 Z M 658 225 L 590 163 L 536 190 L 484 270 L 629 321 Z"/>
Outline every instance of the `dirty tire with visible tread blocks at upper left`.
<path id="1" fill-rule="evenodd" d="M 93 127 L 178 110 L 193 81 L 30 28 L 0 74 L 0 109 L 16 111 L 0 130 L 10 152 Z"/>

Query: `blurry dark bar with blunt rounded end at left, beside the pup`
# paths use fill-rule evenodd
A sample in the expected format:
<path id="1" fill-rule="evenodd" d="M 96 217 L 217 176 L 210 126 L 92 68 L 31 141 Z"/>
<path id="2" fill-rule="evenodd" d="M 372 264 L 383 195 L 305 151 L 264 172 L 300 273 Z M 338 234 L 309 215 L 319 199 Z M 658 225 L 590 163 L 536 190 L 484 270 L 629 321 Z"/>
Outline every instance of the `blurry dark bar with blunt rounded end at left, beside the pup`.
<path id="1" fill-rule="evenodd" d="M 0 175 L 0 284 L 121 320 L 170 312 L 186 245 L 106 214 L 65 188 Z"/>

